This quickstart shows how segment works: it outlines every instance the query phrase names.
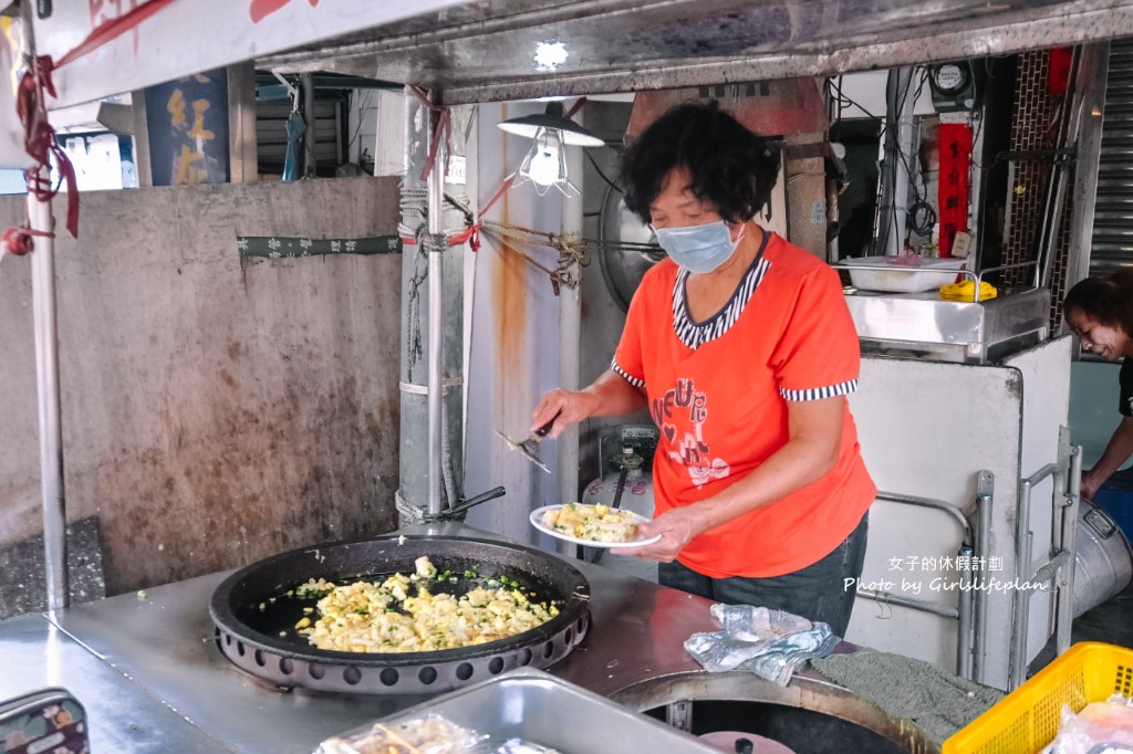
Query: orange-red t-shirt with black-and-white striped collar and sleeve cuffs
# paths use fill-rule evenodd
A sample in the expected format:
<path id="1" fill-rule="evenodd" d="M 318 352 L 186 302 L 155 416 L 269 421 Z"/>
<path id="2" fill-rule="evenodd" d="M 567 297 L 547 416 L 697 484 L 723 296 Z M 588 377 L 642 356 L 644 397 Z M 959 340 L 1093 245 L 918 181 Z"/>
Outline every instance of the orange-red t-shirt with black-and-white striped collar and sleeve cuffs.
<path id="1" fill-rule="evenodd" d="M 661 440 L 656 515 L 712 497 L 789 439 L 787 406 L 847 395 L 861 352 L 838 275 L 770 232 L 729 303 L 696 323 L 687 273 L 665 259 L 641 281 L 613 369 L 644 387 Z M 679 560 L 705 575 L 793 573 L 837 547 L 877 494 L 846 409 L 834 468 L 781 500 L 695 538 Z"/>

